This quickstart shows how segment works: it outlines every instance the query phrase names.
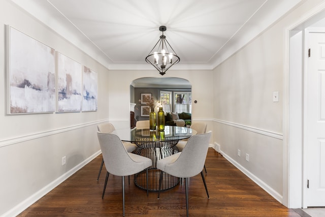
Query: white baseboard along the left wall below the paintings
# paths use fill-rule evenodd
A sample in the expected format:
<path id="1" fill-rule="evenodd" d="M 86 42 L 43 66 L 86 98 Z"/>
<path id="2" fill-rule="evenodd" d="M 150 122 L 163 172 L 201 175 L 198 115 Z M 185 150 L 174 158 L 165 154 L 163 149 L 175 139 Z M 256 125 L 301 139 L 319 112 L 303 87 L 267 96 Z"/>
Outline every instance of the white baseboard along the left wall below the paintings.
<path id="1" fill-rule="evenodd" d="M 30 197 L 28 197 L 27 199 L 25 199 L 21 203 L 17 204 L 15 207 L 13 207 L 12 209 L 10 209 L 6 213 L 4 213 L 2 215 L 2 217 L 5 217 L 5 216 L 6 217 L 7 216 L 8 217 L 17 216 L 19 213 L 21 213 L 22 211 L 24 211 L 30 205 L 32 205 L 33 203 L 35 203 L 36 201 L 38 201 L 39 199 L 41 199 L 44 195 L 46 195 L 47 193 L 49 193 L 50 191 L 52 191 L 54 188 L 56 188 L 57 185 L 59 185 L 60 183 L 62 183 L 65 180 L 67 180 L 75 172 L 77 172 L 82 167 L 84 167 L 86 164 L 88 164 L 90 161 L 92 161 L 97 156 L 99 156 L 100 153 L 102 153 L 101 150 L 95 152 L 94 154 L 92 154 L 92 156 L 90 156 L 89 158 L 85 159 L 83 162 L 81 162 L 80 164 L 78 164 L 77 166 L 75 166 L 74 168 L 72 168 L 71 170 L 67 171 L 66 173 L 64 173 L 63 175 L 61 175 L 60 177 L 58 177 L 57 179 L 55 179 L 54 181 L 52 181 L 51 183 L 49 183 L 48 185 L 46 185 L 44 188 L 42 188 L 41 190 L 39 190 L 35 194 L 31 195 Z"/>

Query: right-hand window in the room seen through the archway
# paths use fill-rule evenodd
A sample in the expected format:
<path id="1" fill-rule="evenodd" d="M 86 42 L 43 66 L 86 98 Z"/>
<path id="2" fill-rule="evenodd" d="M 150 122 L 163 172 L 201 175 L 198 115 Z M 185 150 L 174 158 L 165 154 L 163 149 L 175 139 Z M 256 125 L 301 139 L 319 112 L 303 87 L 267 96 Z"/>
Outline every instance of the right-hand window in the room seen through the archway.
<path id="1" fill-rule="evenodd" d="M 174 92 L 175 112 L 192 112 L 191 92 Z"/>

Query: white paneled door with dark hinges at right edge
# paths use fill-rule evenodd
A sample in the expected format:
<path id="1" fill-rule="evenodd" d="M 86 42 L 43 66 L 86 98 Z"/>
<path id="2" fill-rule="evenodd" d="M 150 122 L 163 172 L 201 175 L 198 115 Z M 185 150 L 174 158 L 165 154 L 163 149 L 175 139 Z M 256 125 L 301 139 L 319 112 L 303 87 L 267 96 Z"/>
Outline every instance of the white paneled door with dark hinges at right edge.
<path id="1" fill-rule="evenodd" d="M 308 207 L 325 206 L 325 33 L 309 33 L 305 76 L 305 151 Z"/>

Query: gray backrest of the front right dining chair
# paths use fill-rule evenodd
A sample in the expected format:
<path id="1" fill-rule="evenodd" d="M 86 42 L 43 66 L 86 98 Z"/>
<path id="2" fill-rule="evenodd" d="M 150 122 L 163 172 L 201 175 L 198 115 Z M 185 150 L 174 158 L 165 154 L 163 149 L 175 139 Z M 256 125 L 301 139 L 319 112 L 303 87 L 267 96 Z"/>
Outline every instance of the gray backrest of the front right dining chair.
<path id="1" fill-rule="evenodd" d="M 166 165 L 166 172 L 180 178 L 188 178 L 202 172 L 208 153 L 211 131 L 191 136 L 178 159 Z"/>

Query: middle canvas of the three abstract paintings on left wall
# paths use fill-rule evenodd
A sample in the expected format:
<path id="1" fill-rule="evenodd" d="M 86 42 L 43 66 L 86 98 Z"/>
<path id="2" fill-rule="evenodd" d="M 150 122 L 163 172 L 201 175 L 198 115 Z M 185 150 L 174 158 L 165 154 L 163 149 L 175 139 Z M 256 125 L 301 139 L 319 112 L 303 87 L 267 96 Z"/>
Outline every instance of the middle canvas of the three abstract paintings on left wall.
<path id="1" fill-rule="evenodd" d="M 82 66 L 68 56 L 56 53 L 58 112 L 81 111 Z"/>

